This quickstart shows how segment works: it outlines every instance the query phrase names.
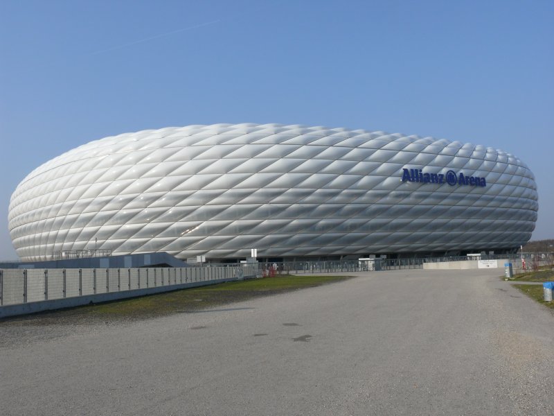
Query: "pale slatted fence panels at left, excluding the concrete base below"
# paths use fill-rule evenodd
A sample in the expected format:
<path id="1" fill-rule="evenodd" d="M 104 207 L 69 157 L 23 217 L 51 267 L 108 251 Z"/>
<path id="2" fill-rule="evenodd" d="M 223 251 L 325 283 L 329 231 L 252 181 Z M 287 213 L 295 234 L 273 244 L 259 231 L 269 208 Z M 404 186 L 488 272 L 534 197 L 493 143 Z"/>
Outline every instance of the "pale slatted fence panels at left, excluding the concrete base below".
<path id="1" fill-rule="evenodd" d="M 258 267 L 0 269 L 0 306 L 256 277 Z"/>

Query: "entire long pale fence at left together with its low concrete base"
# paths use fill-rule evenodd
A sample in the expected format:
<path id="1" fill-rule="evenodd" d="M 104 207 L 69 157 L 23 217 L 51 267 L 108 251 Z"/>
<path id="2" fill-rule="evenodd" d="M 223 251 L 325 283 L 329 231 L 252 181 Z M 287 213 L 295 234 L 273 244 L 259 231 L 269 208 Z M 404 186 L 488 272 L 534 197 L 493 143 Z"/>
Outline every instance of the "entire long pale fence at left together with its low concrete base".
<path id="1" fill-rule="evenodd" d="M 0 269 L 0 318 L 256 277 L 258 267 Z"/>

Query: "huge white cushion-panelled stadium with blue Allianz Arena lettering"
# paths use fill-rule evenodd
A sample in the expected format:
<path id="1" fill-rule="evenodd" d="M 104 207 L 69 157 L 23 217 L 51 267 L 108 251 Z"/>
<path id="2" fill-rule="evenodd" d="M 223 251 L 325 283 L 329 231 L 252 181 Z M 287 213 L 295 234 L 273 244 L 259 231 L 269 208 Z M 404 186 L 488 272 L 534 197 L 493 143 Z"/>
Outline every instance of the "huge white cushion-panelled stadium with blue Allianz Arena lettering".
<path id="1" fill-rule="evenodd" d="M 91 141 L 12 195 L 23 261 L 98 248 L 224 260 L 510 252 L 537 219 L 502 150 L 381 131 L 188 125 Z"/>

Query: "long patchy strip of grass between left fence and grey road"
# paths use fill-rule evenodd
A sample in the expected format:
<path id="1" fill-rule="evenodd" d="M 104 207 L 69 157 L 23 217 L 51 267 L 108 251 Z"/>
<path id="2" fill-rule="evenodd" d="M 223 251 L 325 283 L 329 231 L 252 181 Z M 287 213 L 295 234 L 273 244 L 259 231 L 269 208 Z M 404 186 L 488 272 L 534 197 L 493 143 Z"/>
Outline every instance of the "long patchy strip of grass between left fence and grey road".
<path id="1" fill-rule="evenodd" d="M 28 324 L 50 324 L 55 322 L 109 323 L 114 320 L 145 319 L 172 313 L 213 309 L 231 302 L 321 286 L 349 278 L 344 276 L 278 275 L 276 277 L 231 281 L 127 300 L 80 306 L 73 309 L 37 313 L 10 319 L 10 321 L 25 321 Z"/>

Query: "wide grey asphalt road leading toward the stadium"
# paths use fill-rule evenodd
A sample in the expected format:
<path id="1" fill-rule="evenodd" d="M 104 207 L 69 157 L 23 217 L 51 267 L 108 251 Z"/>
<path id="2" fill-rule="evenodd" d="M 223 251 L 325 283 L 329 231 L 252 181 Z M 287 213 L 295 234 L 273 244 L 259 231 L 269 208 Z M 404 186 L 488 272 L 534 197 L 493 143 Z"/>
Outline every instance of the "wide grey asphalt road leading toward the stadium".
<path id="1" fill-rule="evenodd" d="M 0 324 L 0 414 L 553 415 L 554 314 L 499 275 L 373 272 L 132 323 Z"/>

